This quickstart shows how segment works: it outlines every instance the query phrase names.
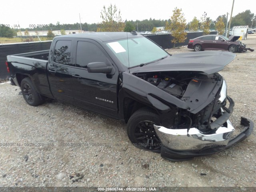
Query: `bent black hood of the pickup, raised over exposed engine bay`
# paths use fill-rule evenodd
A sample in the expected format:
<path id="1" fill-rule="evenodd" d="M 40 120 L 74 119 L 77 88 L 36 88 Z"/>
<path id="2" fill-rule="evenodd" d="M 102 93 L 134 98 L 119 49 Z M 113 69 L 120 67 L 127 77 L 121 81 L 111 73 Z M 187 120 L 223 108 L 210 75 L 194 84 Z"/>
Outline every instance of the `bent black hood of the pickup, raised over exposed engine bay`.
<path id="1" fill-rule="evenodd" d="M 131 68 L 131 73 L 162 71 L 194 71 L 213 74 L 229 64 L 236 54 L 222 51 L 181 53 L 142 67 Z"/>

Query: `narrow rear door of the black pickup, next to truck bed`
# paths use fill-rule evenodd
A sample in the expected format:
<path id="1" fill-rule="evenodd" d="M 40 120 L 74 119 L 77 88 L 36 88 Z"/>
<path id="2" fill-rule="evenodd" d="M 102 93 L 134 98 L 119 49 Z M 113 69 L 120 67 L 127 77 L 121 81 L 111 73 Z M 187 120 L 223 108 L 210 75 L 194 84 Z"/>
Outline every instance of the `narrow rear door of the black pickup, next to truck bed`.
<path id="1" fill-rule="evenodd" d="M 52 42 L 55 44 L 50 50 L 50 59 L 47 67 L 50 90 L 54 98 L 74 104 L 72 90 L 72 40 L 61 39 Z"/>

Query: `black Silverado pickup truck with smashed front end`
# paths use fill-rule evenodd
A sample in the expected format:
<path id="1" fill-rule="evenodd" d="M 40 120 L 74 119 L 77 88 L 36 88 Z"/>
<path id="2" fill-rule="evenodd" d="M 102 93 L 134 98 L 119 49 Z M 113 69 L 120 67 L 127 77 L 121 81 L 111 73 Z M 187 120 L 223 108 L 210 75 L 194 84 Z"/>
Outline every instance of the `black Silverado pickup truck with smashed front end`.
<path id="1" fill-rule="evenodd" d="M 50 50 L 7 56 L 6 66 L 28 104 L 52 98 L 122 120 L 134 146 L 186 160 L 252 133 L 241 118 L 245 128 L 232 138 L 228 120 L 234 102 L 218 71 L 235 56 L 170 55 L 136 32 L 93 32 L 55 37 Z"/>

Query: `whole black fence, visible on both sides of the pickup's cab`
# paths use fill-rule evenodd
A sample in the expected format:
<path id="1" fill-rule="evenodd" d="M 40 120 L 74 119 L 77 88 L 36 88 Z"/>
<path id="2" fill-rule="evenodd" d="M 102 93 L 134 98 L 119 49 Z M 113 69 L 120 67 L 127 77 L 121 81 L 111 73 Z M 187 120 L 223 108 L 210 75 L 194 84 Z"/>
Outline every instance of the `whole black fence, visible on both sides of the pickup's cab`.
<path id="1" fill-rule="evenodd" d="M 211 32 L 210 34 L 217 34 L 217 32 Z M 184 46 L 188 44 L 190 39 L 202 36 L 203 32 L 194 32 L 188 33 L 187 39 L 183 43 L 177 43 L 175 46 Z M 173 37 L 171 34 L 158 34 L 158 35 L 146 35 L 147 38 L 154 41 L 156 44 L 161 46 L 164 49 L 173 48 L 173 43 L 171 40 Z M 0 45 L 0 79 L 6 79 L 9 76 L 7 72 L 5 61 L 7 55 L 14 55 L 20 53 L 34 52 L 34 51 L 42 51 L 49 50 L 51 46 L 51 42 L 30 42 L 30 43 L 22 43 L 22 44 L 2 44 Z"/>

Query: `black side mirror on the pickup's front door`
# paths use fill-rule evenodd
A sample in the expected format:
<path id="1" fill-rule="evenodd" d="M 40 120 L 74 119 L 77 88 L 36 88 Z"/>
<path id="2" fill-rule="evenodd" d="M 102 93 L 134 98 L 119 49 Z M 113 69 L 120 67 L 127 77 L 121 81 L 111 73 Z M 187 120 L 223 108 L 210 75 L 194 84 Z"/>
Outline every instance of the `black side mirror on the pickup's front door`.
<path id="1" fill-rule="evenodd" d="M 107 65 L 105 62 L 88 63 L 87 70 L 89 73 L 106 73 L 110 75 L 115 73 L 114 67 Z"/>

